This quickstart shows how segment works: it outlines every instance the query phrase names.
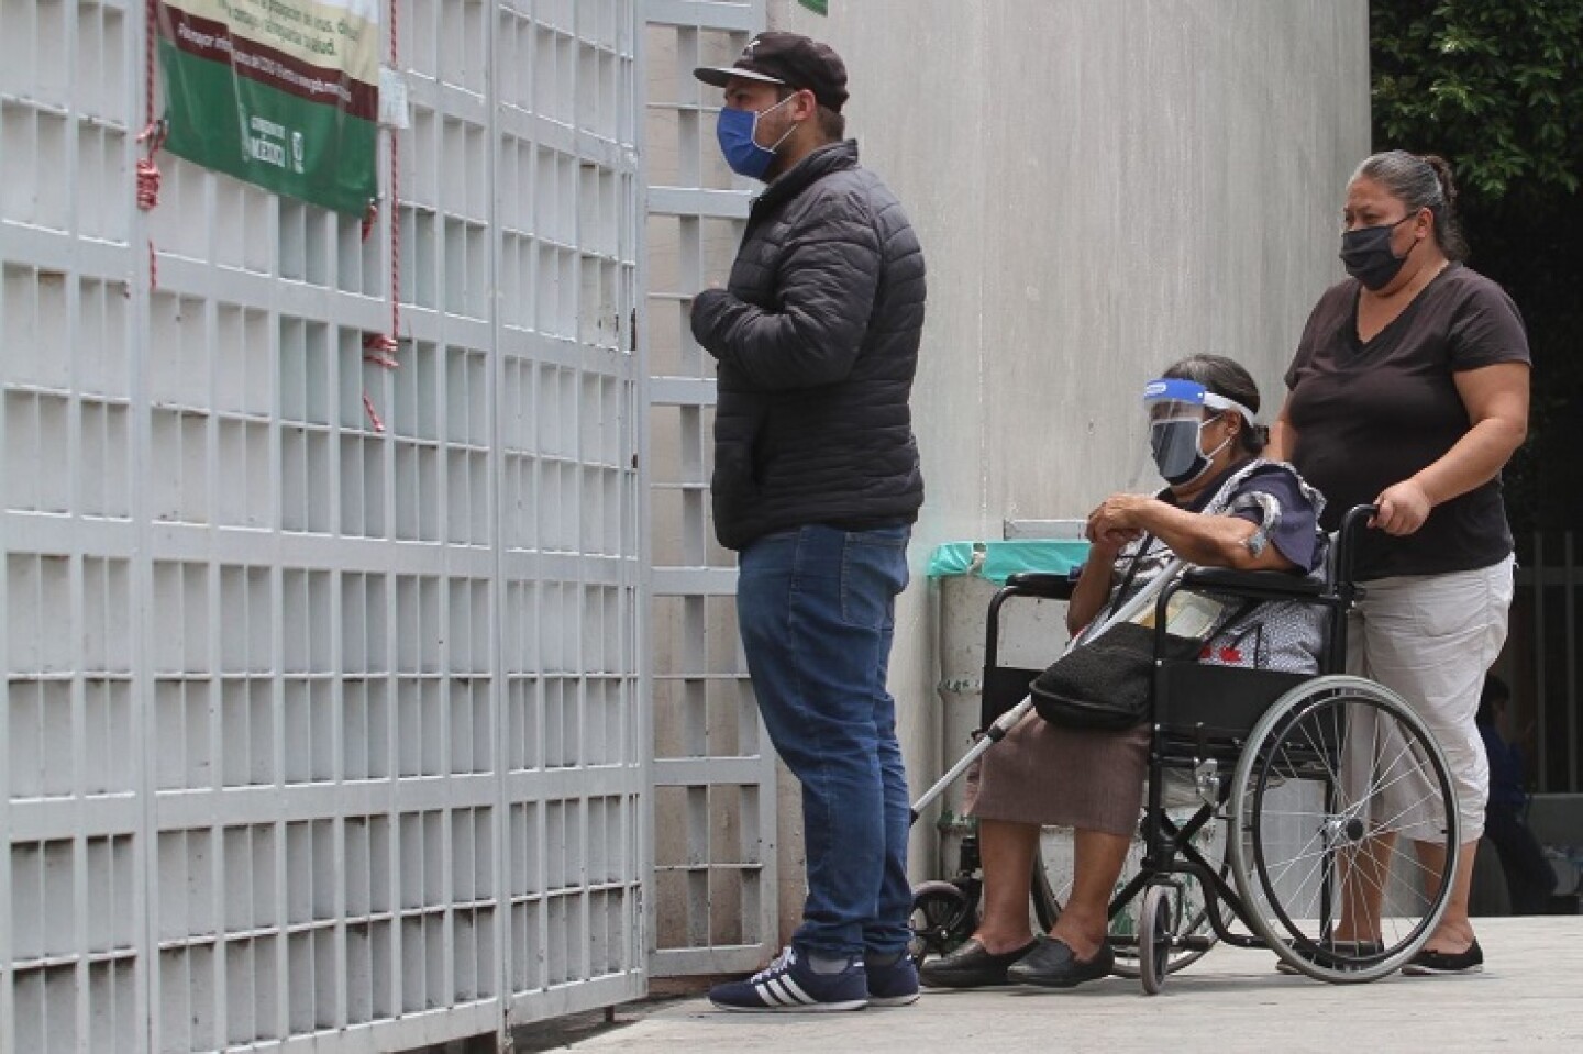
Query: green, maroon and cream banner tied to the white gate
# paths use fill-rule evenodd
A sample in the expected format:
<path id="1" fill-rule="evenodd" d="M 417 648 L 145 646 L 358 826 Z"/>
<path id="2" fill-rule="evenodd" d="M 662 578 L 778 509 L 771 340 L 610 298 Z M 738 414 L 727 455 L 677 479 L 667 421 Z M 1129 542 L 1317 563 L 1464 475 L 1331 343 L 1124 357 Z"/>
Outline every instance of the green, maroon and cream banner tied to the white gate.
<path id="1" fill-rule="evenodd" d="M 378 193 L 378 0 L 160 0 L 165 149 L 363 215 Z"/>

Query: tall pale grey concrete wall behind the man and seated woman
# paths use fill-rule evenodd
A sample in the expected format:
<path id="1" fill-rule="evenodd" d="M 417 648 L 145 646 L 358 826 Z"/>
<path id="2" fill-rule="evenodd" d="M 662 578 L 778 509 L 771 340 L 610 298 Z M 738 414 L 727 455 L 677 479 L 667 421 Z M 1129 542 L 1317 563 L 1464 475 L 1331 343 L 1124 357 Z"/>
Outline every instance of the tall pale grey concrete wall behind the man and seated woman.
<path id="1" fill-rule="evenodd" d="M 818 17 L 773 0 L 769 21 L 845 59 L 848 135 L 931 269 L 913 399 L 928 500 L 891 665 L 917 793 L 964 749 L 939 741 L 934 546 L 1157 486 L 1138 394 L 1183 354 L 1239 359 L 1260 418 L 1277 408 L 1308 309 L 1341 277 L 1342 185 L 1369 147 L 1368 3 L 831 0 Z M 931 840 L 915 839 L 918 877 Z M 801 880 L 795 859 L 782 874 Z"/>

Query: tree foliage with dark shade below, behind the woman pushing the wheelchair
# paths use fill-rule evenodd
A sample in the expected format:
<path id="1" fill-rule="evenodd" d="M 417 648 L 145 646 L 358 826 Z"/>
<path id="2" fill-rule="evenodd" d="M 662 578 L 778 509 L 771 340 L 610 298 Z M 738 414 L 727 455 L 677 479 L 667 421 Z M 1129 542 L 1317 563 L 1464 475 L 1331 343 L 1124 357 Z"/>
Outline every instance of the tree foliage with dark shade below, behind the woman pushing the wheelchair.
<path id="1" fill-rule="evenodd" d="M 1471 263 L 1528 326 L 1512 525 L 1583 527 L 1583 0 L 1372 0 L 1369 19 L 1374 149 L 1452 161 Z"/>

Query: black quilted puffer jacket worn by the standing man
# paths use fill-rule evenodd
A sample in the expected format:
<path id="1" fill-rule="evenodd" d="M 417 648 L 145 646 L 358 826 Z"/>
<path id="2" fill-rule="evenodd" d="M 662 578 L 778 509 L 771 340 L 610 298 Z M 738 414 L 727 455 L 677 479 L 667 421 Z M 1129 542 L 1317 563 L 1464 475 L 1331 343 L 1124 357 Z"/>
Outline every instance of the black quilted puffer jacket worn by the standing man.
<path id="1" fill-rule="evenodd" d="M 917 519 L 907 399 L 923 331 L 923 252 L 855 142 L 820 147 L 754 203 L 728 290 L 693 301 L 719 359 L 714 530 Z"/>

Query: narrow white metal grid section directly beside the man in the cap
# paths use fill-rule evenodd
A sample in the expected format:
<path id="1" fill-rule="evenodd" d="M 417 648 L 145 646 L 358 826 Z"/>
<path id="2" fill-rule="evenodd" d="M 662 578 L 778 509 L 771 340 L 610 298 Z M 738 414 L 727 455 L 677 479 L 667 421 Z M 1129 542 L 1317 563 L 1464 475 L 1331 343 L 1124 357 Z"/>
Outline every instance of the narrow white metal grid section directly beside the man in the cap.
<path id="1" fill-rule="evenodd" d="M 647 0 L 649 288 L 654 510 L 654 970 L 723 973 L 777 942 L 776 763 L 736 631 L 736 562 L 709 518 L 714 364 L 692 294 L 722 280 L 750 190 L 714 141 L 720 98 L 693 79 L 730 65 L 765 2 Z"/>

